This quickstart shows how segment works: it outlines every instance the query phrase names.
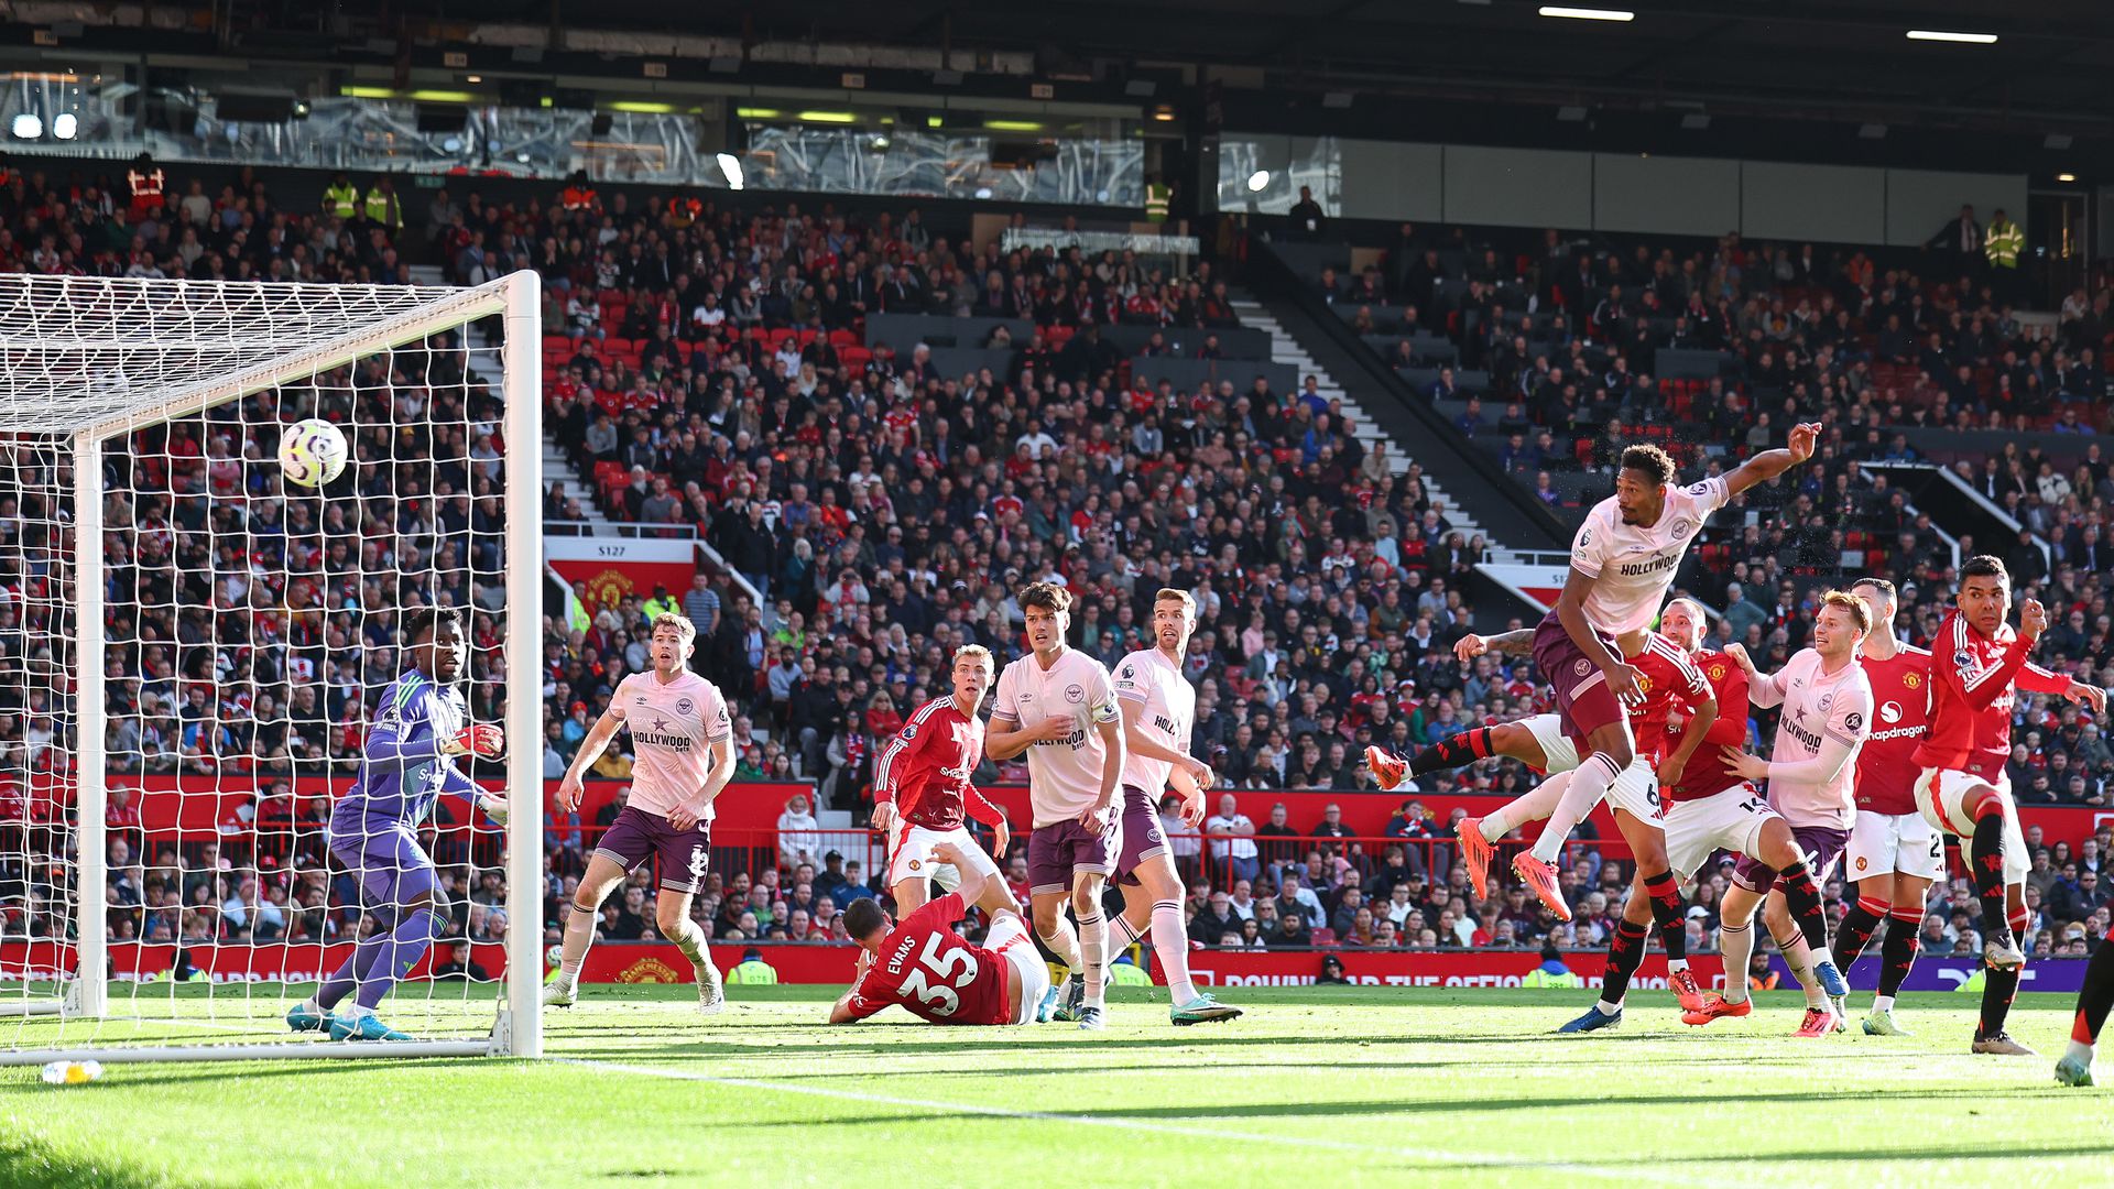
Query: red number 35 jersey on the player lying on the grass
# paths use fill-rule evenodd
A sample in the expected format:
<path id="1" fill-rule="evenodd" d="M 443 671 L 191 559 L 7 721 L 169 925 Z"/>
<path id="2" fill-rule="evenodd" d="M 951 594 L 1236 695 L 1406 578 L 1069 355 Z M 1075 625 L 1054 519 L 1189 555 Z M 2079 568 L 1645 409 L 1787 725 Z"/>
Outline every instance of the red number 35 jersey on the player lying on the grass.
<path id="1" fill-rule="evenodd" d="M 898 1005 L 930 1024 L 1010 1024 L 1006 961 L 953 933 L 964 912 L 962 893 L 947 893 L 890 929 L 852 988 L 852 1016 Z"/>

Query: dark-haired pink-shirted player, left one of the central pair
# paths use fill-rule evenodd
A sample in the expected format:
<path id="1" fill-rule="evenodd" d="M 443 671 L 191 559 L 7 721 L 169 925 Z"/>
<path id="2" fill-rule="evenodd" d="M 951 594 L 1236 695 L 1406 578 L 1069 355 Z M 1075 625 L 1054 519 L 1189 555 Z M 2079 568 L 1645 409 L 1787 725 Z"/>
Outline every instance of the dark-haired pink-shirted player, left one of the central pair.
<path id="1" fill-rule="evenodd" d="M 1027 753 L 1027 893 L 1036 935 L 1070 971 L 1061 1018 L 1080 1028 L 1101 1028 L 1101 971 L 1108 965 L 1108 925 L 1101 889 L 1123 848 L 1120 819 L 1110 810 L 1123 774 L 1123 715 L 1108 669 L 1084 652 L 1065 647 L 1072 630 L 1072 592 L 1053 582 L 1032 582 L 1021 594 L 1030 654 L 998 675 L 998 700 L 983 753 L 1013 760 Z M 1065 899 L 1078 933 L 1063 918 Z M 1057 1011 L 1057 988 L 1046 1011 Z"/>

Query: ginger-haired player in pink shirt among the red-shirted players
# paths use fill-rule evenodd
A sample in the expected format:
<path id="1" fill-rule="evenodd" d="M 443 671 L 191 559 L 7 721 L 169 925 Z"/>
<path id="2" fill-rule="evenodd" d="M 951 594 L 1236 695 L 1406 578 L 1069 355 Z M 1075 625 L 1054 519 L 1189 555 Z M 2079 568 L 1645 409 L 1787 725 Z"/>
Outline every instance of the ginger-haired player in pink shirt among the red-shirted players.
<path id="1" fill-rule="evenodd" d="M 1871 611 L 1865 603 L 1841 590 L 1829 590 L 1814 618 L 1814 645 L 1799 650 L 1780 673 L 1759 673 L 1738 643 L 1725 650 L 1746 673 L 1748 698 L 1757 707 L 1784 707 L 1776 721 L 1772 760 L 1725 747 L 1727 768 L 1748 781 L 1769 781 L 1769 808 L 1791 825 L 1807 884 L 1829 878 L 1835 859 L 1850 842 L 1850 823 L 1856 821 L 1850 785 L 1856 776 L 1856 753 L 1871 734 L 1873 713 L 1871 681 L 1865 679 L 1856 650 L 1869 630 Z M 1795 925 L 1788 901 L 1793 895 L 1803 901 L 1805 886 L 1778 889 L 1776 882 L 1778 872 L 1769 863 L 1759 861 L 1753 850 L 1742 850 L 1731 872 L 1731 889 L 1719 906 L 1725 969 L 1746 969 L 1755 952 L 1755 910 L 1763 908 L 1776 948 L 1805 988 L 1805 1020 L 1797 1035 L 1820 1037 L 1841 1030 L 1839 999 L 1850 988 L 1826 950 L 1826 918 L 1820 920 L 1818 935 Z M 1812 893 L 1816 910 L 1818 895 Z M 1746 1005 L 1744 994 L 1733 996 L 1731 980 L 1725 982 L 1725 996 L 1685 1020 L 1708 1024 L 1725 1013 L 1721 1007 L 1729 1003 Z M 1729 1013 L 1744 1016 L 1744 1011 Z"/>

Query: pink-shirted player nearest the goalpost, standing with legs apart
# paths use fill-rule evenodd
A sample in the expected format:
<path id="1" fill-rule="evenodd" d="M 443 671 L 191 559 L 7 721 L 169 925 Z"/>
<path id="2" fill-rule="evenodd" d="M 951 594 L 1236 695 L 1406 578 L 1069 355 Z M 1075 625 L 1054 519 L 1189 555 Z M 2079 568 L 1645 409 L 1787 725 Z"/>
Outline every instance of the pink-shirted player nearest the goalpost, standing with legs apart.
<path id="1" fill-rule="evenodd" d="M 609 709 L 579 740 L 579 753 L 558 783 L 558 808 L 579 808 L 581 774 L 626 726 L 632 732 L 632 798 L 588 859 L 588 872 L 573 895 L 564 922 L 558 973 L 543 986 L 545 1007 L 571 1007 L 579 967 L 594 944 L 594 920 L 602 899 L 624 876 L 649 857 L 660 857 L 660 895 L 653 925 L 674 941 L 698 973 L 698 1011 L 710 1016 L 725 1005 L 719 967 L 706 948 L 704 929 L 689 918 L 689 901 L 704 880 L 712 850 L 712 800 L 734 776 L 734 724 L 727 700 L 710 681 L 689 671 L 698 628 L 676 614 L 653 618 L 653 669 L 632 673 L 617 685 Z"/>

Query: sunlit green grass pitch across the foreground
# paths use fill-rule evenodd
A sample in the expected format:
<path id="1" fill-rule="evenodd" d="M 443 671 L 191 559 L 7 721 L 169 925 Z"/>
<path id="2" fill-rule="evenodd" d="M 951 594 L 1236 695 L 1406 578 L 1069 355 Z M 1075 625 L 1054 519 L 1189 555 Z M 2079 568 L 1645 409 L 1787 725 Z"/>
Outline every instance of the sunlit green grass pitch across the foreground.
<path id="1" fill-rule="evenodd" d="M 1550 1037 L 1590 992 L 1243 988 L 1171 1028 L 820 1024 L 827 988 L 592 988 L 543 1062 L 0 1068 L 0 1185 L 2025 1185 L 2114 1183 L 2114 1094 L 2051 1077 L 2070 996 L 2021 996 L 2040 1058 L 1968 1056 L 1968 996 L 1913 1037 L 1799 1041 L 1799 999 L 1685 1028 Z M 1869 994 L 1854 999 L 1858 1007 Z M 385 1016 L 387 1018 L 387 1016 Z"/>

